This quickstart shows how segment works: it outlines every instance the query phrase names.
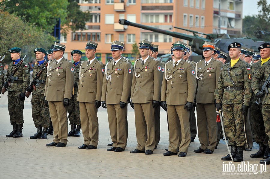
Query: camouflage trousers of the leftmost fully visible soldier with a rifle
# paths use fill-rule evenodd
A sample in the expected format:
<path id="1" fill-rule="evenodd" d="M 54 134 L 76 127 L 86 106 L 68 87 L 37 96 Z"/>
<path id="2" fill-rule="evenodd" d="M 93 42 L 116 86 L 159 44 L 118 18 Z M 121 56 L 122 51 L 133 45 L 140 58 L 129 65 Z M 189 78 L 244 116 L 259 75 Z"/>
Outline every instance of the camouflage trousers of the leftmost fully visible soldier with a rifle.
<path id="1" fill-rule="evenodd" d="M 7 94 L 7 103 L 8 103 L 8 113 L 10 117 L 10 123 L 13 126 L 14 124 L 20 125 L 23 124 L 23 108 L 24 100 L 19 99 L 21 92 L 20 91 L 8 91 Z"/>

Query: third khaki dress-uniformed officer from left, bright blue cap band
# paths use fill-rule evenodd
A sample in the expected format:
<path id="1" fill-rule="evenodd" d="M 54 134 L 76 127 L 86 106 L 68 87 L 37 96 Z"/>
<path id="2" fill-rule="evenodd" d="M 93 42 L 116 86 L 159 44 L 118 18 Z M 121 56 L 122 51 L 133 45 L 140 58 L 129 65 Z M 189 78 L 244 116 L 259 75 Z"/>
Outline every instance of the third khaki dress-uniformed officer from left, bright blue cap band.
<path id="1" fill-rule="evenodd" d="M 113 41 L 113 59 L 105 66 L 101 104 L 107 108 L 109 128 L 113 146 L 107 151 L 125 151 L 128 139 L 128 98 L 131 93 L 132 66 L 122 58 L 124 44 Z"/>

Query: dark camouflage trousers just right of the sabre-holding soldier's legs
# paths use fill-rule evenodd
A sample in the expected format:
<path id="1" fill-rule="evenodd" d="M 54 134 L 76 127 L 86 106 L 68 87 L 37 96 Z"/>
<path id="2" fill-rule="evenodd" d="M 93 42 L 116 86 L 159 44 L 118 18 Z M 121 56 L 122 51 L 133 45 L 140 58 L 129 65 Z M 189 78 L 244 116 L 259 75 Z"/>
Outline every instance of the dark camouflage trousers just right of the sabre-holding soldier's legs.
<path id="1" fill-rule="evenodd" d="M 253 130 L 256 143 L 262 143 L 267 145 L 268 136 L 265 134 L 264 122 L 262 117 L 262 104 L 250 103 L 250 112 L 253 117 Z M 269 113 L 268 113 L 269 114 Z"/>

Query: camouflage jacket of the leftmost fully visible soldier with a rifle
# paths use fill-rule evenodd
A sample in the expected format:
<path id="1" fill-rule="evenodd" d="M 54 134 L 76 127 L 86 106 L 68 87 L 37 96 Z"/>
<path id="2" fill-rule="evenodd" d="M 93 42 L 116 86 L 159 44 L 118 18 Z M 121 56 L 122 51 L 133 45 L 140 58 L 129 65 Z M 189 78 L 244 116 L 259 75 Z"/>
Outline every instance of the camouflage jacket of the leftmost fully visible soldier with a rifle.
<path id="1" fill-rule="evenodd" d="M 5 80 L 10 76 L 10 73 L 15 69 L 16 65 L 11 62 L 7 68 L 7 76 Z M 18 91 L 21 93 L 26 93 L 26 89 L 30 83 L 30 68 L 26 62 L 22 62 L 22 65 L 18 68 L 13 77 L 18 77 L 17 80 L 10 83 L 10 87 L 8 87 L 8 91 Z M 21 82 L 19 82 L 21 81 Z"/>

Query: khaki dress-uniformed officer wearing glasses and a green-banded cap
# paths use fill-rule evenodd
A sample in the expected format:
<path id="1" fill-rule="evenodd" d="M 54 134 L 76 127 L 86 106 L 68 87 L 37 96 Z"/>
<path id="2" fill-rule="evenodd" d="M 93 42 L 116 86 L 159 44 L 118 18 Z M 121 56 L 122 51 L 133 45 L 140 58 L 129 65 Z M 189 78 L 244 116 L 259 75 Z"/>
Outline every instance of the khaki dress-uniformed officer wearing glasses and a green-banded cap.
<path id="1" fill-rule="evenodd" d="M 187 44 L 181 41 L 173 43 L 174 59 L 167 62 L 161 87 L 161 107 L 168 113 L 169 149 L 163 155 L 177 155 L 179 137 L 179 157 L 187 155 L 190 144 L 189 115 L 193 108 L 196 91 L 196 78 L 191 62 L 183 60 Z M 181 130 L 176 125 L 180 121 Z M 181 132 L 181 135 L 180 135 Z"/>

